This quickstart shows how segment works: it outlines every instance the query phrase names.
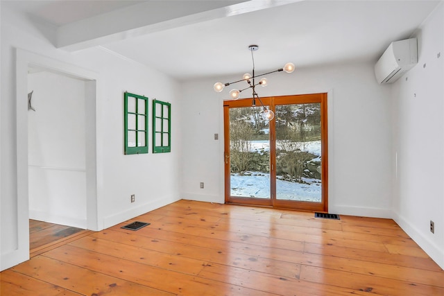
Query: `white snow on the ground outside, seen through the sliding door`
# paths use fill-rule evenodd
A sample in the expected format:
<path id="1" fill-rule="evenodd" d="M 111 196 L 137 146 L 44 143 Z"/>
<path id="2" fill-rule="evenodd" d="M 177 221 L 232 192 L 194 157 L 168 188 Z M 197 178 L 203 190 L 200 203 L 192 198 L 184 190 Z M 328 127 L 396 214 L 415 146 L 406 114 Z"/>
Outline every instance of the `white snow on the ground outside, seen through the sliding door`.
<path id="1" fill-rule="evenodd" d="M 268 141 L 252 141 L 251 150 L 268 151 Z M 321 141 L 307 142 L 303 151 L 321 155 Z M 321 202 L 321 182 L 316 179 L 302 178 L 307 184 L 276 180 L 278 200 L 300 200 Z M 239 197 L 270 198 L 270 174 L 246 172 L 244 175 L 232 174 L 230 177 L 231 195 Z"/>

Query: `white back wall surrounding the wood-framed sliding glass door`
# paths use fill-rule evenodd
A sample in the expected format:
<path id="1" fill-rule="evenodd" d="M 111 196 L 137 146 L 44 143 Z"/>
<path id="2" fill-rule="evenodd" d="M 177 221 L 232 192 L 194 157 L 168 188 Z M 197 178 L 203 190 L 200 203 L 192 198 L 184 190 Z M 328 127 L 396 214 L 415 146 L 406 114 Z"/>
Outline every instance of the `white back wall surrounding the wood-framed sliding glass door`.
<path id="1" fill-rule="evenodd" d="M 278 66 L 277 66 L 278 67 Z M 260 70 L 256 70 L 260 72 Z M 329 209 L 338 214 L 391 217 L 390 87 L 378 85 L 373 64 L 331 65 L 271 74 L 259 96 L 329 92 Z M 182 197 L 224 201 L 223 98 L 218 77 L 182 85 Z M 230 87 L 228 87 L 230 88 Z M 219 133 L 219 141 L 214 140 Z M 205 189 L 199 188 L 205 182 Z"/>

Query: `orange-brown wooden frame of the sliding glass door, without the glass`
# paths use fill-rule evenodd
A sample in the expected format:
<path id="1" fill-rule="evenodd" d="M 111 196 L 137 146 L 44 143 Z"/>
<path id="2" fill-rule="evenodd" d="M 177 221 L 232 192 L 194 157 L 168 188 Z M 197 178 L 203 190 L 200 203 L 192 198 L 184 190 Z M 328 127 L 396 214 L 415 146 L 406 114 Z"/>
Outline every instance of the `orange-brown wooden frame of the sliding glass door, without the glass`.
<path id="1" fill-rule="evenodd" d="M 297 101 L 295 103 L 295 101 Z M 246 98 L 236 101 L 224 101 L 223 103 L 223 132 L 224 132 L 224 184 L 225 184 L 225 203 L 231 204 L 250 204 L 264 207 L 303 209 L 307 211 L 328 211 L 328 130 L 327 130 L 327 93 L 302 94 L 292 96 L 271 96 L 262 98 L 264 105 L 269 106 L 275 112 L 275 105 L 302 104 L 302 103 L 321 103 L 321 155 L 322 166 L 322 202 L 299 202 L 290 200 L 276 200 L 275 182 L 271 182 L 271 198 L 236 198 L 230 195 L 230 108 L 251 107 L 252 98 Z M 276 179 L 276 139 L 275 139 L 275 120 L 270 121 L 270 179 Z M 273 130 L 273 131 L 272 131 Z M 274 137 L 274 138 L 273 138 Z M 273 156 L 273 157 L 272 157 Z"/>

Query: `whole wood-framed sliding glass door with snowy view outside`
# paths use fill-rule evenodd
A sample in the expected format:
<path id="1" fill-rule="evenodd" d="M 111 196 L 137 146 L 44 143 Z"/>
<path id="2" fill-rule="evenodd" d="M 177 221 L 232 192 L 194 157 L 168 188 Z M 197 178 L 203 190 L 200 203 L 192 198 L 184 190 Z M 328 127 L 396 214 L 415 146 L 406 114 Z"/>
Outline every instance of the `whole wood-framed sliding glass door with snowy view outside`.
<path id="1" fill-rule="evenodd" d="M 327 211 L 327 94 L 224 102 L 225 202 Z"/>

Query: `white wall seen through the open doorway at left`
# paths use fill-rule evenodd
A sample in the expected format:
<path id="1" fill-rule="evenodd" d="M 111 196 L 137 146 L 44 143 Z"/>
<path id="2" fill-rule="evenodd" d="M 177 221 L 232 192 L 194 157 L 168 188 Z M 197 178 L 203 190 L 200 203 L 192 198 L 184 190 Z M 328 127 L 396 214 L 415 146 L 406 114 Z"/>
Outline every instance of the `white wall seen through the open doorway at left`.
<path id="1" fill-rule="evenodd" d="M 85 81 L 28 75 L 29 218 L 87 228 Z"/>

